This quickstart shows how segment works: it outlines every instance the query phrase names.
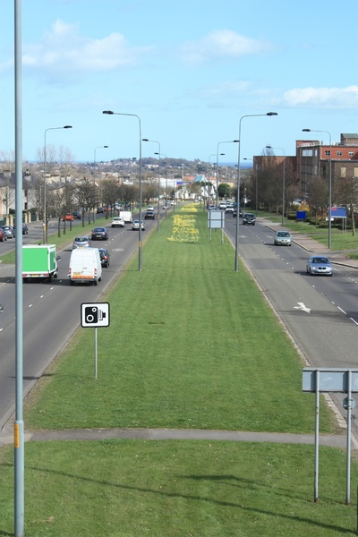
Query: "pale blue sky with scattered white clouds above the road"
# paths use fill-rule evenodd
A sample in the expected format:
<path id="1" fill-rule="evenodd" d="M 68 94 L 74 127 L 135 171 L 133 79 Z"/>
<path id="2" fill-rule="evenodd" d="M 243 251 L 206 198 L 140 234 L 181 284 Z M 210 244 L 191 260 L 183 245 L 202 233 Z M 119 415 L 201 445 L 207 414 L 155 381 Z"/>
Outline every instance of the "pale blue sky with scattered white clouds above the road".
<path id="1" fill-rule="evenodd" d="M 219 160 L 237 162 L 240 134 L 248 162 L 267 145 L 294 155 L 296 140 L 328 143 L 330 135 L 333 144 L 358 132 L 357 0 L 16 5 L 23 160 L 36 162 L 46 139 L 78 162 L 159 150 L 161 158 L 215 163 L 225 153 Z M 15 148 L 15 2 L 1 0 L 0 16 L 1 163 Z"/>

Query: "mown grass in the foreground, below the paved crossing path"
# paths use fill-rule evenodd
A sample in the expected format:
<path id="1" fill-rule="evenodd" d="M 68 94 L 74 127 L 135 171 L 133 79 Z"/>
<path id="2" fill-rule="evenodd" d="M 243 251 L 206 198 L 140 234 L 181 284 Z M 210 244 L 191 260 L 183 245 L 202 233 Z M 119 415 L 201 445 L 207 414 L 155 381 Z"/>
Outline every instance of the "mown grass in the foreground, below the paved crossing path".
<path id="1" fill-rule="evenodd" d="M 26 445 L 27 537 L 354 535 L 345 456 L 226 441 L 106 440 Z M 3 459 L 0 535 L 12 533 L 12 453 Z M 354 480 L 357 474 L 354 470 Z"/>

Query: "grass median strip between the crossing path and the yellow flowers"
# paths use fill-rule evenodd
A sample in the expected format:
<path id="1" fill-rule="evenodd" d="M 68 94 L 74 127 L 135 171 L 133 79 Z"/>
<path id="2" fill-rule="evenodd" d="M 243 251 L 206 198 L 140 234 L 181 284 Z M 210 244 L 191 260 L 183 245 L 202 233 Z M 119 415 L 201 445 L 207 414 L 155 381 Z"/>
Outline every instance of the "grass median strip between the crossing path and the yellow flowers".
<path id="1" fill-rule="evenodd" d="M 302 362 L 221 234 L 168 241 L 171 218 L 132 260 L 105 300 L 109 328 L 80 328 L 38 384 L 27 425 L 40 429 L 166 427 L 312 432 Z M 80 304 L 79 304 L 80 312 Z M 36 396 L 35 396 L 36 395 Z M 322 430 L 331 431 L 328 412 Z"/>

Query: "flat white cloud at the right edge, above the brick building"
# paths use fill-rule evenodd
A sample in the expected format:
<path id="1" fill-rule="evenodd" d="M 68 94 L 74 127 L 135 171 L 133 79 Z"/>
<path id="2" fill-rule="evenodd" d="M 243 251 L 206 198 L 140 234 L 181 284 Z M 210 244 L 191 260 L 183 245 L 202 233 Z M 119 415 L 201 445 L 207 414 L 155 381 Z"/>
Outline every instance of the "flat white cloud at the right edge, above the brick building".
<path id="1" fill-rule="evenodd" d="M 358 86 L 296 88 L 284 93 L 284 101 L 290 107 L 356 107 L 358 105 Z"/>

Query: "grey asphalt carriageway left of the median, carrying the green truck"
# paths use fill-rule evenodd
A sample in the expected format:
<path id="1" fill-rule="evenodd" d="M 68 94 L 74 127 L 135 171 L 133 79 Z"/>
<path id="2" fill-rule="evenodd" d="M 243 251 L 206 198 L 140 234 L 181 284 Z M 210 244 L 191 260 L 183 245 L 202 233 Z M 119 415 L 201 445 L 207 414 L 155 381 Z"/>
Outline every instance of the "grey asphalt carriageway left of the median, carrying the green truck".
<path id="1" fill-rule="evenodd" d="M 134 215 L 133 215 L 134 216 Z M 101 223 L 105 223 L 101 219 Z M 99 221 L 98 221 L 99 223 Z M 107 224 L 110 220 L 107 220 Z M 157 221 L 146 220 L 146 230 L 157 230 Z M 81 228 L 81 222 L 74 222 Z M 55 233 L 56 223 L 49 226 L 49 234 Z M 67 274 L 71 247 L 60 251 L 58 278 L 51 283 L 30 281 L 23 286 L 23 393 L 26 396 L 48 364 L 63 349 L 74 331 L 81 323 L 81 303 L 101 302 L 107 286 L 124 268 L 132 254 L 138 250 L 138 232 L 130 225 L 124 228 L 108 228 L 108 241 L 94 242 L 96 247 L 105 246 L 111 254 L 110 266 L 103 268 L 102 280 L 98 286 L 70 286 Z M 34 224 L 29 235 L 23 235 L 23 243 L 41 242 L 42 226 Z M 0 244 L 4 248 L 14 248 L 11 240 Z M 143 266 L 145 254 L 143 253 Z M 0 265 L 0 302 L 4 311 L 0 313 L 0 430 L 13 414 L 15 405 L 15 268 L 13 265 Z M 81 328 L 86 329 L 86 328 Z M 98 336 L 98 339 L 100 336 Z M 91 365 L 92 366 L 92 365 Z"/>

